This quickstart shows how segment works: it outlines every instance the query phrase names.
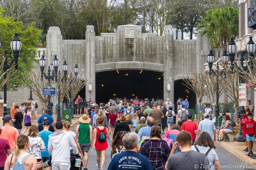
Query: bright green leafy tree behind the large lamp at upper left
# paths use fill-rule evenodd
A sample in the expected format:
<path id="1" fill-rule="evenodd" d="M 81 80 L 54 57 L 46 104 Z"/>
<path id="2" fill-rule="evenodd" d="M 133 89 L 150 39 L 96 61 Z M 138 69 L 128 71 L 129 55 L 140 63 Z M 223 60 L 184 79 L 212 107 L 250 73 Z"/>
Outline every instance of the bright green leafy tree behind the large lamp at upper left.
<path id="1" fill-rule="evenodd" d="M 7 83 L 8 90 L 17 90 L 22 87 L 21 76 L 22 73 L 27 73 L 31 69 L 35 68 L 34 62 L 37 62 L 36 46 L 41 41 L 41 30 L 35 27 L 35 23 L 31 23 L 25 29 L 21 21 L 14 21 L 12 17 L 4 17 L 4 10 L 0 8 L 0 41 L 2 43 L 0 54 L 7 50 L 8 63 L 13 59 L 10 42 L 12 41 L 15 32 L 19 33 L 20 41 L 22 42 L 22 48 L 20 51 L 20 57 L 18 59 L 18 71 L 15 74 L 17 78 L 12 79 Z"/>

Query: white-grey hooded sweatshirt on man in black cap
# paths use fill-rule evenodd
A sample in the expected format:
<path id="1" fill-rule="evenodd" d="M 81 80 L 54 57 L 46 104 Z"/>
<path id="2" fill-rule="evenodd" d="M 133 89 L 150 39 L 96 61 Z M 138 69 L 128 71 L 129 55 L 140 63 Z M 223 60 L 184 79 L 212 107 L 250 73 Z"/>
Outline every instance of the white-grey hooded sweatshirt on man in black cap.
<path id="1" fill-rule="evenodd" d="M 58 131 L 50 135 L 48 152 L 52 155 L 52 162 L 70 163 L 69 146 L 73 149 L 74 154 L 78 153 L 76 142 L 69 133 Z"/>

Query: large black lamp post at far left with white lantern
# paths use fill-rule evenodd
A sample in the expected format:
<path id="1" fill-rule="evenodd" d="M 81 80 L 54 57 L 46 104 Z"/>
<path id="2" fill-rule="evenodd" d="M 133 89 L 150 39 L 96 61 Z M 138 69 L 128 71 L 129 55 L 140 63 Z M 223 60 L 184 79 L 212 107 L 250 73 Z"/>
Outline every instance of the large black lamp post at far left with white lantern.
<path id="1" fill-rule="evenodd" d="M 15 64 L 15 70 L 18 69 L 18 58 L 19 58 L 19 52 L 21 50 L 21 47 L 22 47 L 22 43 L 18 37 L 18 33 L 14 33 L 14 38 L 12 39 L 12 42 L 11 42 L 11 49 L 13 51 L 13 56 L 14 56 L 14 60 L 12 60 L 11 64 L 7 64 L 7 59 L 8 59 L 8 56 L 7 56 L 7 50 L 4 51 L 4 57 L 5 57 L 5 60 L 4 60 L 4 66 L 3 66 L 3 70 L 4 70 L 4 80 L 6 79 L 6 71 L 8 69 L 10 69 L 10 67 L 12 66 L 12 64 L 14 63 Z M 1 42 L 0 42 L 0 48 L 1 48 Z M 6 99 L 7 99 L 7 85 L 6 83 L 4 84 L 4 116 L 7 115 L 7 103 L 6 103 Z"/>

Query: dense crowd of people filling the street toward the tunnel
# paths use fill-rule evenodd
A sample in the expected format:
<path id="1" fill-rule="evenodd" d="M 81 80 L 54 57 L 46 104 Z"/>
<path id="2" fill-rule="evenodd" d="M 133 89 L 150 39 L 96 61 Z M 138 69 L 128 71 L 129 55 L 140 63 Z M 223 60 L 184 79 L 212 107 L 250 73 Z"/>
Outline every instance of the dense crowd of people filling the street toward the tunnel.
<path id="1" fill-rule="evenodd" d="M 220 134 L 221 142 L 224 141 L 224 133 L 233 131 L 233 122 L 225 113 L 221 127 L 217 129 L 209 119 L 209 112 L 203 114 L 203 120 L 197 126 L 192 121 L 192 114 L 188 113 L 187 99 L 177 100 L 177 115 L 169 99 L 164 102 L 158 99 L 148 101 L 124 98 L 109 100 L 100 105 L 91 99 L 87 102 L 80 96 L 77 99 L 80 105 L 77 107 L 78 112 L 81 113 L 82 108 L 85 108 L 85 114 L 79 118 L 80 123 L 75 132 L 70 130 L 70 122 L 55 123 L 52 116 L 47 114 L 47 109 L 43 110 L 43 115 L 38 119 L 38 126 L 31 125 L 31 110 L 34 108 L 25 107 L 20 110 L 20 107 L 14 106 L 16 113 L 13 118 L 11 115 L 4 116 L 5 125 L 0 129 L 0 170 L 42 170 L 44 162 L 54 170 L 68 170 L 74 166 L 71 164 L 72 155 L 83 157 L 84 170 L 87 170 L 91 149 L 97 153 L 96 168 L 104 170 L 108 148 L 111 148 L 112 159 L 108 170 L 205 167 L 218 170 L 220 162 L 213 144 L 216 133 Z M 206 105 L 205 108 L 209 107 Z M 247 112 L 242 111 L 241 124 L 247 140 L 245 151 L 250 156 L 253 154 L 256 122 L 252 120 L 250 108 Z M 177 122 L 176 117 L 179 119 Z M 23 132 L 22 123 L 25 125 Z M 24 135 L 26 131 L 27 136 Z M 108 140 L 112 141 L 111 146 L 108 146 Z M 184 160 L 190 163 L 184 164 Z M 195 165 L 204 166 L 195 168 Z"/>

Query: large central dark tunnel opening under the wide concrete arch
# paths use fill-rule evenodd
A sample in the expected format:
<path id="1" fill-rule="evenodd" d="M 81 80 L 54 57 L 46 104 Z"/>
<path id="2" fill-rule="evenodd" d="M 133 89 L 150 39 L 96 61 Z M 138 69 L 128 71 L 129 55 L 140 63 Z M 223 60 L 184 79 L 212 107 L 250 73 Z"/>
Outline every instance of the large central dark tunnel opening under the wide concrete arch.
<path id="1" fill-rule="evenodd" d="M 112 70 L 95 74 L 96 102 L 109 99 L 163 99 L 164 74 L 148 70 Z"/>

